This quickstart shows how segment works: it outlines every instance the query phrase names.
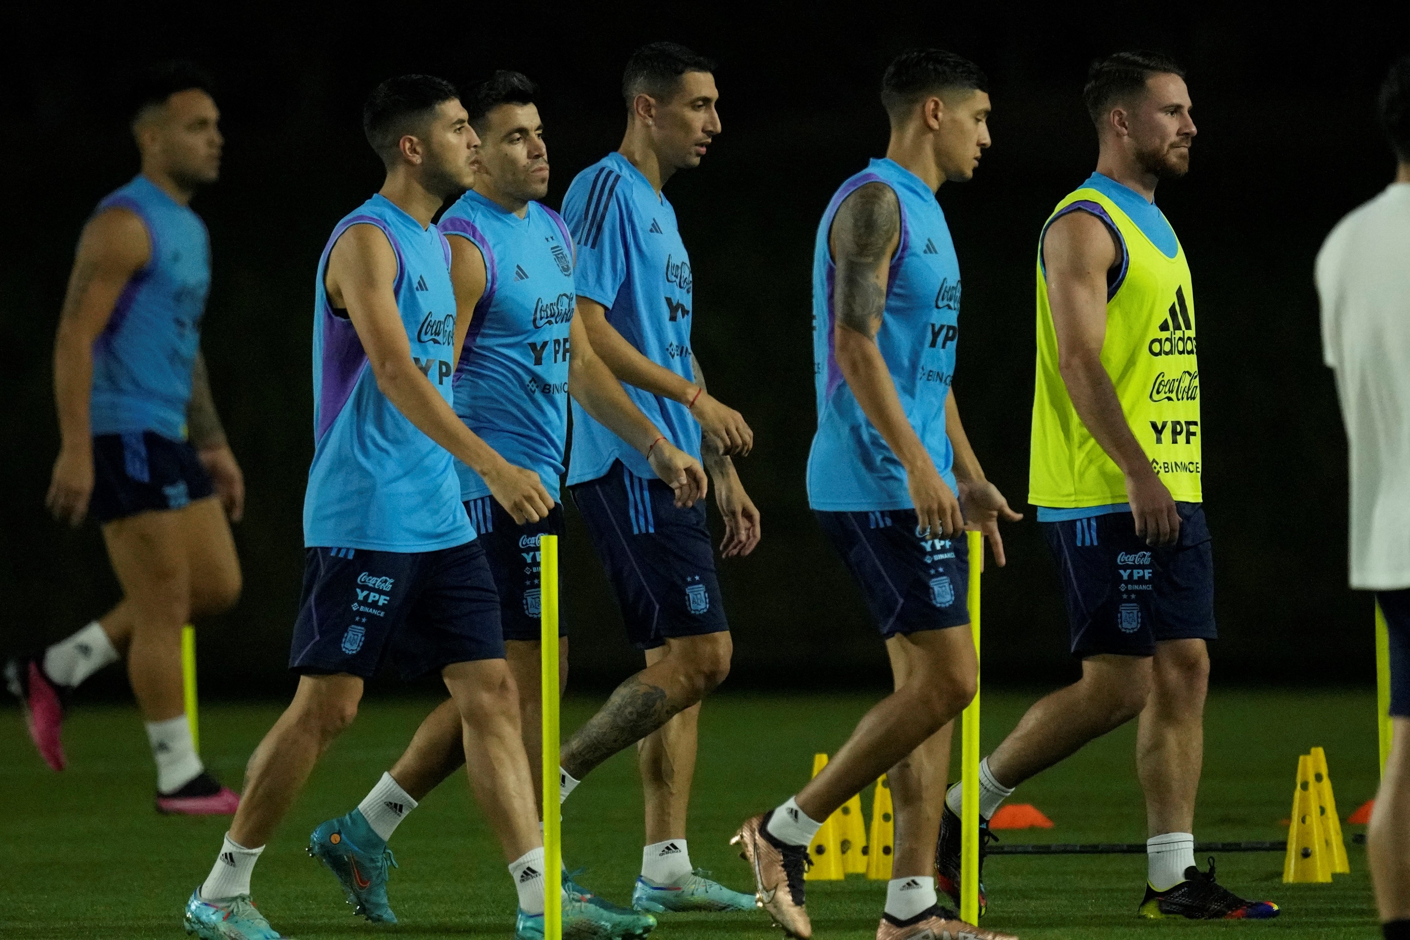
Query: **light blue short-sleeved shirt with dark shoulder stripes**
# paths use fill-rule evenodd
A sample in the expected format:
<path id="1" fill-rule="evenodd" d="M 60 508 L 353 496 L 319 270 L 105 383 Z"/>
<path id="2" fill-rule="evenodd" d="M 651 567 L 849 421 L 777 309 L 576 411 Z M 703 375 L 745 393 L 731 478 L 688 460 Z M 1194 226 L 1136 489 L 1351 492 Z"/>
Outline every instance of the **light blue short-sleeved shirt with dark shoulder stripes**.
<path id="1" fill-rule="evenodd" d="M 578 248 L 578 296 L 606 307 L 608 323 L 642 355 L 694 382 L 691 261 L 671 203 L 630 161 L 608 154 L 574 178 L 563 200 L 563 217 Z M 671 444 L 699 459 L 701 426 L 688 407 L 630 385 L 623 388 Z M 613 461 L 622 461 L 637 476 L 656 476 L 636 448 L 574 402 L 568 483 L 598 479 Z"/>

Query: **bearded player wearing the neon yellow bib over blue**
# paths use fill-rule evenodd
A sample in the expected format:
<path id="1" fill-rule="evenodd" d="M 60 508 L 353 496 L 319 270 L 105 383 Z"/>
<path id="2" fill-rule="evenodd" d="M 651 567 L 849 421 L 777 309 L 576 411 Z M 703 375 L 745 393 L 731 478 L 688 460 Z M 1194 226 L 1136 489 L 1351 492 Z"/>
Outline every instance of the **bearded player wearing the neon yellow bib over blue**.
<path id="1" fill-rule="evenodd" d="M 1038 375 L 1029 502 L 1067 596 L 1081 679 L 1034 705 L 980 764 L 980 827 L 1015 786 L 1139 716 L 1146 798 L 1142 917 L 1266 919 L 1194 864 L 1206 641 L 1215 638 L 1200 503 L 1200 366 L 1184 251 L 1155 206 L 1190 168 L 1184 70 L 1153 52 L 1093 63 L 1083 100 L 1097 172 L 1038 245 Z M 960 786 L 946 795 L 936 868 L 959 895 Z M 981 886 L 983 893 L 983 886 Z M 981 905 L 986 901 L 981 901 Z"/>

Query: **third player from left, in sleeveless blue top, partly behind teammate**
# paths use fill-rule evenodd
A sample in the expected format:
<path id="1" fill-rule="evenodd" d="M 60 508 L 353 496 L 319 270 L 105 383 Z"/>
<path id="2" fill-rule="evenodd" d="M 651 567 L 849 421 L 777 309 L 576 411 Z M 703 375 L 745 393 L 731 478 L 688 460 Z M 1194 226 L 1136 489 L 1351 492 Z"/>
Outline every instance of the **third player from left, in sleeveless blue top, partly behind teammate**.
<path id="1" fill-rule="evenodd" d="M 568 443 L 567 396 L 571 393 L 589 414 L 632 443 L 671 486 L 675 506 L 688 507 L 702 499 L 706 481 L 699 462 L 667 441 L 627 397 L 574 316 L 572 240 L 558 214 L 539 202 L 548 192 L 548 148 L 536 93 L 526 76 L 496 72 L 468 96 L 470 123 L 481 140 L 479 171 L 475 187 L 446 211 L 440 230 L 451 245 L 460 316 L 472 317 L 455 373 L 455 413 L 501 455 L 533 468 L 556 500 L 547 517 L 519 524 L 475 471 L 455 465 L 460 496 L 499 589 L 505 658 L 519 689 L 534 793 L 541 796 L 536 551 L 540 536 L 564 534 L 557 500 Z M 564 636 L 561 682 L 567 681 L 567 645 Z M 447 702 L 422 723 L 412 747 L 358 809 L 314 830 L 310 853 L 329 865 L 350 902 L 369 920 L 396 920 L 386 902 L 386 840 L 464 760 L 460 716 L 454 702 Z M 578 885 L 568 889 L 591 893 Z M 650 913 L 601 899 L 594 908 L 605 912 L 598 919 L 612 936 L 643 936 L 656 924 Z"/>

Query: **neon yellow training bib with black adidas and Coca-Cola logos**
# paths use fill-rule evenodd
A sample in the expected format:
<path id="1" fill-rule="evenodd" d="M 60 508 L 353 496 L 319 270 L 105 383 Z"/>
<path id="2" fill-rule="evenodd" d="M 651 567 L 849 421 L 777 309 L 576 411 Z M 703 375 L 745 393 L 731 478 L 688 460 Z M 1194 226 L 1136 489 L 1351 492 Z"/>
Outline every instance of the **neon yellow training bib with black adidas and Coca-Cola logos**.
<path id="1" fill-rule="evenodd" d="M 1048 224 L 1073 203 L 1105 216 L 1125 242 L 1122 272 L 1107 296 L 1101 365 L 1131 433 L 1177 502 L 1201 502 L 1200 365 L 1194 287 L 1184 248 L 1167 258 L 1111 199 L 1083 187 L 1058 203 Z M 1179 244 L 1179 242 L 1177 242 Z M 1091 437 L 1058 372 L 1058 337 L 1038 244 L 1038 373 L 1034 382 L 1028 502 L 1056 509 L 1125 503 L 1125 476 Z"/>

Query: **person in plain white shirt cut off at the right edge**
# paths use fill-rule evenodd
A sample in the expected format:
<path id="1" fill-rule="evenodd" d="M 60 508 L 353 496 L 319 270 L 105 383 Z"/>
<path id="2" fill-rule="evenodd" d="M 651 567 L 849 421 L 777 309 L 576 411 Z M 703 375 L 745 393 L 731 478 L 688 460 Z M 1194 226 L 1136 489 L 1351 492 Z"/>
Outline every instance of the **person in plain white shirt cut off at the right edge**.
<path id="1" fill-rule="evenodd" d="M 1394 733 L 1366 855 L 1386 940 L 1410 937 L 1410 55 L 1380 89 L 1394 182 L 1317 255 L 1323 357 L 1351 457 L 1351 586 L 1375 590 L 1390 634 Z"/>

